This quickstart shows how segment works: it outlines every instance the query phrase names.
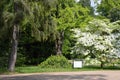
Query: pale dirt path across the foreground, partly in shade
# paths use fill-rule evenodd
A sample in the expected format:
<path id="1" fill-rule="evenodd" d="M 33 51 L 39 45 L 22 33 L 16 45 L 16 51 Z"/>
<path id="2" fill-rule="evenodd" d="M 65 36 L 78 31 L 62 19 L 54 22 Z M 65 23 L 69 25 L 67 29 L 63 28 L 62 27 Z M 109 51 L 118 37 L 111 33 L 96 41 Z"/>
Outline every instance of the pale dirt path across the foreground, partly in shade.
<path id="1" fill-rule="evenodd" d="M 120 71 L 81 71 L 0 75 L 0 80 L 120 80 Z"/>

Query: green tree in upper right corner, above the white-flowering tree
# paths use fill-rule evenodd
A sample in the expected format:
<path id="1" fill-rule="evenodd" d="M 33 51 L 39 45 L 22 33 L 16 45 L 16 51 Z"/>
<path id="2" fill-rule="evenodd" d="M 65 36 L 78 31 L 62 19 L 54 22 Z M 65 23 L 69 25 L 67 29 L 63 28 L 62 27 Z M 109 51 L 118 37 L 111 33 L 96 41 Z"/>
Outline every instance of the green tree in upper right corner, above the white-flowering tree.
<path id="1" fill-rule="evenodd" d="M 102 0 L 97 11 L 100 15 L 109 18 L 111 22 L 117 21 L 120 19 L 120 0 Z"/>

